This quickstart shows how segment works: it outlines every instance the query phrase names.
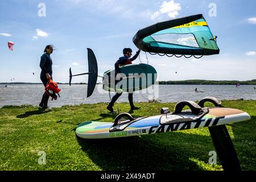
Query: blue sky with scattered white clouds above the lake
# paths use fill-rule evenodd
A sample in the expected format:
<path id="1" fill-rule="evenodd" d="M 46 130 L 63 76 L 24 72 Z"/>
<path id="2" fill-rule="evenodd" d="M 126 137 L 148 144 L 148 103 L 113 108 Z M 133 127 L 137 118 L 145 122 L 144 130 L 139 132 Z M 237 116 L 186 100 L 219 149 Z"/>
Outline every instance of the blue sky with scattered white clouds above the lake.
<path id="1" fill-rule="evenodd" d="M 195 14 L 204 15 L 220 54 L 186 59 L 147 53 L 158 80 L 253 80 L 255 6 L 254 0 L 0 0 L 0 82 L 41 82 L 40 57 L 48 44 L 56 48 L 53 81 L 68 82 L 69 68 L 74 75 L 88 72 L 86 48 L 93 49 L 102 76 L 114 68 L 124 47 L 135 54 L 133 36 L 141 28 Z M 13 51 L 7 42 L 14 42 Z M 141 52 L 133 63 L 147 59 Z M 73 77 L 72 82 L 87 78 Z"/>

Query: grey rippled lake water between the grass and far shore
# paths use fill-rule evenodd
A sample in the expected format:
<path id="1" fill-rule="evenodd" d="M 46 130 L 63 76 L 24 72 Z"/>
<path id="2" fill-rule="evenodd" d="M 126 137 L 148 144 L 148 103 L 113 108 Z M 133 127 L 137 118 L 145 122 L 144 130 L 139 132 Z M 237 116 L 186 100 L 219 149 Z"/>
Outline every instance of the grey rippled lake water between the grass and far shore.
<path id="1" fill-rule="evenodd" d="M 212 96 L 219 100 L 256 100 L 256 85 L 154 85 L 148 89 L 134 93 L 134 102 L 148 102 L 158 100 L 160 102 L 179 102 L 182 100 L 199 101 L 204 97 Z M 102 85 L 96 85 L 92 96 L 86 98 L 87 85 L 59 85 L 60 98 L 51 101 L 51 107 L 63 105 L 91 104 L 97 102 L 109 102 L 114 92 L 106 92 Z M 195 88 L 202 92 L 194 92 Z M 0 107 L 5 105 L 36 105 L 40 103 L 44 93 L 42 85 L 0 85 Z M 51 98 L 51 97 L 50 97 Z M 118 102 L 128 102 L 128 94 L 123 93 Z"/>

